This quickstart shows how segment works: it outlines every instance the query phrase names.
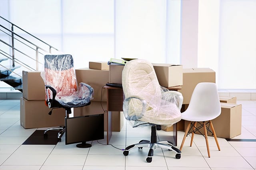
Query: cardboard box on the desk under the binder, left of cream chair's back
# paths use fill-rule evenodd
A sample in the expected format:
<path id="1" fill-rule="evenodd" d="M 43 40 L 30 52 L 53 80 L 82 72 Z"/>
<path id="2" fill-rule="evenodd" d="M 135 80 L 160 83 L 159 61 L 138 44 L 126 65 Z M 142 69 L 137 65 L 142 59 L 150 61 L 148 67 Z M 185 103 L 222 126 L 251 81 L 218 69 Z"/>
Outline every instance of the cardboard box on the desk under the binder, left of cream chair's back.
<path id="1" fill-rule="evenodd" d="M 122 71 L 124 65 L 122 64 L 110 64 L 109 65 L 109 82 L 122 84 Z"/>

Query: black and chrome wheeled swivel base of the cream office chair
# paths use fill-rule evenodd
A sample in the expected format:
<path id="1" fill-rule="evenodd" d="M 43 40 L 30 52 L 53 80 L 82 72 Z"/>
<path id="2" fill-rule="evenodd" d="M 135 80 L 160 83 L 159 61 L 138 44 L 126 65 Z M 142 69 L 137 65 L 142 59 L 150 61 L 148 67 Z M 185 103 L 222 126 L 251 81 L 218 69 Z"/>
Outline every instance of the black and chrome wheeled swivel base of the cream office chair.
<path id="1" fill-rule="evenodd" d="M 168 150 L 174 150 L 177 154 L 175 155 L 175 157 L 177 159 L 181 158 L 181 151 L 179 149 L 177 149 L 176 147 L 173 146 L 173 143 L 170 141 L 156 141 L 157 137 L 156 137 L 156 126 L 152 126 L 151 128 L 151 141 L 148 140 L 141 140 L 139 143 L 130 145 L 128 147 L 125 148 L 123 154 L 124 156 L 127 156 L 129 154 L 129 150 L 134 149 L 136 147 L 138 147 L 138 149 L 142 149 L 143 147 L 148 147 L 149 152 L 148 152 L 148 157 L 146 158 L 147 162 L 152 162 L 152 157 L 154 154 L 154 149 L 156 148 L 165 148 Z M 164 144 L 167 143 L 167 144 Z"/>

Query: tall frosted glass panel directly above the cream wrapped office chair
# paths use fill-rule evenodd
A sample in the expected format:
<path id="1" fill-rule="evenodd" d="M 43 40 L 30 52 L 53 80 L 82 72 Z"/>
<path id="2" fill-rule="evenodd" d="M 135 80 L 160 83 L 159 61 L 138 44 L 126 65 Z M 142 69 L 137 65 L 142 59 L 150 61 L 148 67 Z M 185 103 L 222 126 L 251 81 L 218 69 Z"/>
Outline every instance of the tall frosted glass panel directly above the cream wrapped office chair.
<path id="1" fill-rule="evenodd" d="M 165 62 L 165 0 L 117 0 L 115 20 L 116 58 Z"/>

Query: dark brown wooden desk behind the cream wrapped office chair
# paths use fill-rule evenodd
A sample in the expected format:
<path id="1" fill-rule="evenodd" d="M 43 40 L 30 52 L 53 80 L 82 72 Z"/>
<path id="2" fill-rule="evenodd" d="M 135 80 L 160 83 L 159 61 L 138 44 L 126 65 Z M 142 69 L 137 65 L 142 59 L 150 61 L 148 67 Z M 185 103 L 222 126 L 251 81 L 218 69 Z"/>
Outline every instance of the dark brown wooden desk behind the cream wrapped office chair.
<path id="1" fill-rule="evenodd" d="M 107 145 L 109 144 L 110 138 L 112 136 L 112 111 L 123 111 L 123 100 L 124 94 L 122 88 L 104 86 L 107 90 Z M 177 91 L 181 89 L 181 86 L 170 87 L 168 90 Z M 173 125 L 173 136 L 171 136 L 171 141 L 174 146 L 177 146 L 177 123 Z"/>

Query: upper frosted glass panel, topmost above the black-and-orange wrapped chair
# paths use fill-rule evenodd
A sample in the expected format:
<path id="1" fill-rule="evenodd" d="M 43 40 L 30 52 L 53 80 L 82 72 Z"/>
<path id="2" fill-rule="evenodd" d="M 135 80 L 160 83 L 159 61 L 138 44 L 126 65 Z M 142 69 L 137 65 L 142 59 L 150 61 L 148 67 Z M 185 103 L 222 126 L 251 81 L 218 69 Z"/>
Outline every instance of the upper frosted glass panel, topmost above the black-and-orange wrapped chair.
<path id="1" fill-rule="evenodd" d="M 62 2 L 64 33 L 114 33 L 114 0 Z"/>

